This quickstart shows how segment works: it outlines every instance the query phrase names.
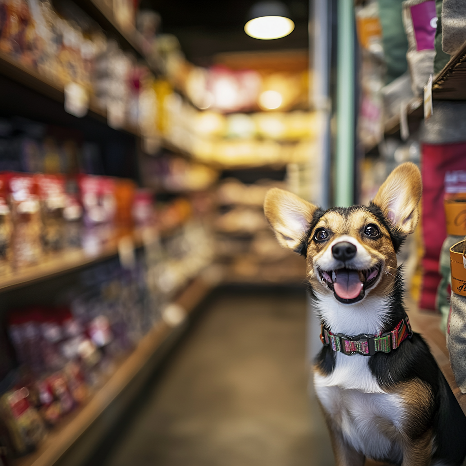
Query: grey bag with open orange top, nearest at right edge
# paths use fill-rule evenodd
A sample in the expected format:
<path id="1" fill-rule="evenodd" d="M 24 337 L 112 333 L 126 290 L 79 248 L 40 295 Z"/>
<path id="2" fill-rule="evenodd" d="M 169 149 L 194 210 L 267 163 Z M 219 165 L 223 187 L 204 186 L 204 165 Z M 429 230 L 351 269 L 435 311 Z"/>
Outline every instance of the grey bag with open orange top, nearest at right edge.
<path id="1" fill-rule="evenodd" d="M 466 240 L 450 248 L 452 267 L 451 310 L 446 329 L 446 346 L 453 374 L 461 393 L 466 393 Z"/>

